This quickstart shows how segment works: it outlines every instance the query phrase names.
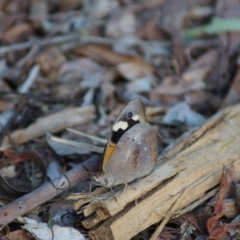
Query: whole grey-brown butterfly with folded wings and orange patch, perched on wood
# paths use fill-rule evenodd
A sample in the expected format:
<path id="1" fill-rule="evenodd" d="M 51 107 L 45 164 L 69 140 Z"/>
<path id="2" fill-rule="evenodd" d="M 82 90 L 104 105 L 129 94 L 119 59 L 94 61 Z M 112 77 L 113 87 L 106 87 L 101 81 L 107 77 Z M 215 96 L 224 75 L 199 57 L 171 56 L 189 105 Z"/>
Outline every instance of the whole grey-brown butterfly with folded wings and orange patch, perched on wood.
<path id="1" fill-rule="evenodd" d="M 139 99 L 132 100 L 112 127 L 95 180 L 103 186 L 127 184 L 152 172 L 158 141 Z"/>

